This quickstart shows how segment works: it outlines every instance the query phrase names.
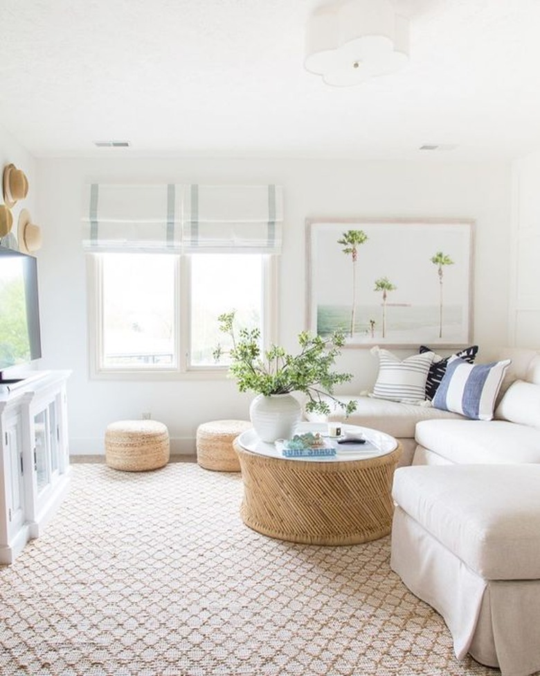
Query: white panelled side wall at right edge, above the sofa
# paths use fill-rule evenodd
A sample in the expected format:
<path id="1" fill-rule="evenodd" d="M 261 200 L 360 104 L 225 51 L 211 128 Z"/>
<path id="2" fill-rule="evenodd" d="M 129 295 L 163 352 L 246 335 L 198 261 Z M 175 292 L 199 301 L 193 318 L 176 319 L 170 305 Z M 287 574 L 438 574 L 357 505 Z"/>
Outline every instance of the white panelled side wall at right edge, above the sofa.
<path id="1" fill-rule="evenodd" d="M 509 344 L 540 347 L 540 151 L 512 167 Z"/>

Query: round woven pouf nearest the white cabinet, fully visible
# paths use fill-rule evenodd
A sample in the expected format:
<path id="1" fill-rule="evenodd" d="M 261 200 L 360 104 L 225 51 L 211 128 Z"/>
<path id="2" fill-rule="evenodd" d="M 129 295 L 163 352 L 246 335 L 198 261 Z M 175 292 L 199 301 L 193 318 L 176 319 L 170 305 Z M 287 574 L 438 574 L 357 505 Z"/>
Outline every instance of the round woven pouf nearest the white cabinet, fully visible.
<path id="1" fill-rule="evenodd" d="M 169 462 L 169 431 L 156 420 L 120 420 L 107 426 L 105 462 L 113 469 L 146 471 Z"/>

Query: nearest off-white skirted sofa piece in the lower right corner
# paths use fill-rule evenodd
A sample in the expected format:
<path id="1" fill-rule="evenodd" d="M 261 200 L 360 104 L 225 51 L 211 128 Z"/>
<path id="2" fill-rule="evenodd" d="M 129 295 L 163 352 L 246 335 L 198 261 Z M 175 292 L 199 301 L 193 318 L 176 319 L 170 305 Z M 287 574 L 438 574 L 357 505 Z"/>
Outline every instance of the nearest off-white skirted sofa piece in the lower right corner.
<path id="1" fill-rule="evenodd" d="M 442 615 L 458 659 L 502 676 L 540 670 L 539 485 L 537 463 L 394 475 L 390 567 Z"/>

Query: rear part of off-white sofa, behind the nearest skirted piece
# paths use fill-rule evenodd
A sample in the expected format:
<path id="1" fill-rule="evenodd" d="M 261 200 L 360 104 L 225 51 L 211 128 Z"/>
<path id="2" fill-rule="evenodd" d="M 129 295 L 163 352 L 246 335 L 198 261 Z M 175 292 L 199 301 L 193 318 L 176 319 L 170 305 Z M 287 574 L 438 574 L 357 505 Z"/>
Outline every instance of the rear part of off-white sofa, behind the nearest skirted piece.
<path id="1" fill-rule="evenodd" d="M 340 396 L 341 401 L 357 401 L 357 410 L 345 420 L 341 408 L 331 406 L 327 419 L 396 437 L 403 448 L 400 467 L 540 462 L 540 352 L 504 348 L 497 358 L 510 359 L 510 366 L 493 420 L 471 420 L 429 402 L 406 404 L 369 396 Z M 321 422 L 320 415 L 308 414 L 308 419 Z"/>

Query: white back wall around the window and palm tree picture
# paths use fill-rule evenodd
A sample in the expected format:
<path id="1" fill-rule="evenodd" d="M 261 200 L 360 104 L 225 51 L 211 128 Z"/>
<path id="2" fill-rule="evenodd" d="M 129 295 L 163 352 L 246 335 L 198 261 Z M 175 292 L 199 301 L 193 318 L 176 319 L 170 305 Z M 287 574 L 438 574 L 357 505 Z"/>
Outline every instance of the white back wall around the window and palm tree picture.
<path id="1" fill-rule="evenodd" d="M 43 368 L 71 369 L 71 453 L 100 453 L 105 427 L 145 410 L 168 425 L 172 448 L 193 451 L 197 425 L 248 415 L 251 395 L 231 381 L 91 381 L 80 202 L 87 182 L 276 183 L 285 196 L 280 260 L 280 343 L 294 349 L 305 328 L 305 219 L 417 217 L 476 220 L 474 340 L 489 358 L 507 338 L 510 166 L 431 162 L 210 159 L 40 159 L 38 214 Z M 372 383 L 377 364 L 348 349 L 339 367 L 354 373 L 343 391 Z"/>

